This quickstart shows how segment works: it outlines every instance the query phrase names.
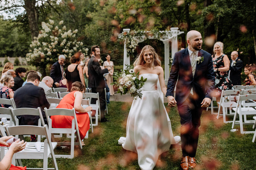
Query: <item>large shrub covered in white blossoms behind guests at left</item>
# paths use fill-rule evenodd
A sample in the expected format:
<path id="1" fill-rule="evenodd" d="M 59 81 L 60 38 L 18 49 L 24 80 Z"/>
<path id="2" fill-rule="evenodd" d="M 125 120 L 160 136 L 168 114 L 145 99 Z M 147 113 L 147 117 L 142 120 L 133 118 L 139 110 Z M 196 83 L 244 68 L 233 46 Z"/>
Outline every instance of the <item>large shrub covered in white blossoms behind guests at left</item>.
<path id="1" fill-rule="evenodd" d="M 27 62 L 45 70 L 46 65 L 56 62 L 60 54 L 70 58 L 80 51 L 86 56 L 88 48 L 84 47 L 83 42 L 77 40 L 77 32 L 77 29 L 67 31 L 63 21 L 58 24 L 51 19 L 49 23 L 42 22 L 42 30 L 38 37 L 34 37 L 34 41 L 30 44 L 31 49 L 26 54 Z"/>

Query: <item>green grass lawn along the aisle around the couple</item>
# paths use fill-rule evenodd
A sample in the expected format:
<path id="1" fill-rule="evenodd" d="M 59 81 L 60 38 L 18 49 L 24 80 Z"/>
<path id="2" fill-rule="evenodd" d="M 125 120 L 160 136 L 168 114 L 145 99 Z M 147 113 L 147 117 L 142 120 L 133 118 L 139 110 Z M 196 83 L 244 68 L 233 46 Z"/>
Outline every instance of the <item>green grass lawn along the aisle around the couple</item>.
<path id="1" fill-rule="evenodd" d="M 165 103 L 166 106 L 166 103 Z M 127 152 L 118 145 L 117 140 L 125 136 L 126 120 L 131 103 L 111 102 L 108 105 L 107 118 L 110 122 L 99 123 L 94 133 L 84 141 L 83 150 L 76 149 L 74 159 L 57 159 L 60 170 L 131 170 L 140 169 L 137 155 Z M 167 108 L 172 123 L 174 135 L 180 134 L 180 117 L 177 108 Z M 252 143 L 253 134 L 241 135 L 239 131 L 230 132 L 231 123 L 223 124 L 223 120 L 216 119 L 210 111 L 203 111 L 201 117 L 199 143 L 196 154 L 196 169 L 255 169 L 256 144 Z M 248 130 L 252 126 L 246 126 Z M 237 126 L 236 129 L 239 129 Z M 62 138 L 60 140 L 65 140 Z M 56 148 L 55 154 L 66 151 Z M 172 145 L 169 152 L 164 153 L 154 169 L 179 169 L 181 158 L 180 145 Z M 42 167 L 43 160 L 22 160 L 27 167 Z M 53 167 L 52 160 L 48 159 L 49 166 Z"/>

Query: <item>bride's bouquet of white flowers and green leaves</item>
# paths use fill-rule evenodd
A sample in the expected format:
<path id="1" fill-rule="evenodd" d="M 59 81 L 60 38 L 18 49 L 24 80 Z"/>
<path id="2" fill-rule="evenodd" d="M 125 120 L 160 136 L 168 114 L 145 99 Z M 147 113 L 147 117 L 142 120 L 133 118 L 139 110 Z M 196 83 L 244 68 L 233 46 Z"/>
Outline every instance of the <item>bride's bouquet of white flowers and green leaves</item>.
<path id="1" fill-rule="evenodd" d="M 122 69 L 119 73 L 114 72 L 114 81 L 111 85 L 118 87 L 117 93 L 121 93 L 121 95 L 130 93 L 134 99 L 137 99 L 137 97 L 141 98 L 142 93 L 140 88 L 144 85 L 144 82 L 147 81 L 147 78 L 143 79 L 143 77 L 141 77 L 139 79 L 139 73 L 136 74 L 134 72 L 133 66 L 126 66 L 127 68 Z"/>

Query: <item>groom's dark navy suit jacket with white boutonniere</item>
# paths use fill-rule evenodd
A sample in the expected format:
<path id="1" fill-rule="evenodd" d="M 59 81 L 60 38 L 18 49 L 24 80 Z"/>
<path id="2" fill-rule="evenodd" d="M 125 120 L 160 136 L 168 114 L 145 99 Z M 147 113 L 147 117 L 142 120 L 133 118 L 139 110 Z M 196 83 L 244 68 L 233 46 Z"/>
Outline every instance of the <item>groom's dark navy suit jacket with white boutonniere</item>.
<path id="1" fill-rule="evenodd" d="M 196 105 L 200 106 L 205 97 L 212 99 L 215 75 L 212 67 L 212 57 L 204 50 L 198 51 L 198 57 L 204 56 L 202 63 L 196 63 L 196 71 L 193 77 L 192 67 L 189 59 L 188 48 L 174 54 L 170 77 L 167 84 L 167 96 L 174 96 L 177 104 L 183 103 L 193 88 Z M 197 61 L 196 61 L 197 62 Z"/>

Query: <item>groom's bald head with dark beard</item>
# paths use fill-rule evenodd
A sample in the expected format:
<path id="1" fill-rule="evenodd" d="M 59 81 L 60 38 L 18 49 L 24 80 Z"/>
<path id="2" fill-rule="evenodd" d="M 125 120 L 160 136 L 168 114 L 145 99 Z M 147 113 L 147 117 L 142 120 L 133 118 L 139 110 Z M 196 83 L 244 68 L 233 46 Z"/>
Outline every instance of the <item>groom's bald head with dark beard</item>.
<path id="1" fill-rule="evenodd" d="M 191 30 L 187 33 L 188 49 L 191 51 L 199 51 L 202 49 L 202 36 L 201 33 L 196 30 Z"/>

